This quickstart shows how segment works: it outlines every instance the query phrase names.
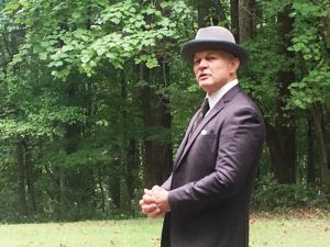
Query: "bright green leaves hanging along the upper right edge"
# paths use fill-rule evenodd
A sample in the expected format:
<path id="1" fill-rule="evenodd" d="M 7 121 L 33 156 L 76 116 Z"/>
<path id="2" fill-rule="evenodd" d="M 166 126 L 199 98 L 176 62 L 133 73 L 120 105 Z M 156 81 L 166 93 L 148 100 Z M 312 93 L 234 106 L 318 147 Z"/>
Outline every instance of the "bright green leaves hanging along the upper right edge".
<path id="1" fill-rule="evenodd" d="M 302 72 L 300 81 L 290 86 L 293 97 L 289 105 L 307 109 L 315 102 L 329 102 L 330 56 L 321 35 L 323 24 L 320 20 L 330 12 L 308 1 L 297 1 L 293 7 L 295 37 L 289 49 L 299 56 L 297 66 Z"/>

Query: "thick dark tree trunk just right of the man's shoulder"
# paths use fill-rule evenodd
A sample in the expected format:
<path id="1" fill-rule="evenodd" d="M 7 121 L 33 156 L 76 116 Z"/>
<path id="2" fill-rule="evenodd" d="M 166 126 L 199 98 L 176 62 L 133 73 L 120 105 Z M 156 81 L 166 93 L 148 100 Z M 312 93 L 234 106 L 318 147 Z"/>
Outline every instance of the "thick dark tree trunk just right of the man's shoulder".
<path id="1" fill-rule="evenodd" d="M 278 52 L 288 61 L 293 60 L 294 54 L 288 52 L 290 45 L 289 34 L 293 30 L 293 20 L 289 16 L 290 5 L 278 13 L 278 35 L 282 37 Z M 272 169 L 279 183 L 294 183 L 296 164 L 295 120 L 289 112 L 285 112 L 285 100 L 289 96 L 292 82 L 295 81 L 294 68 L 290 63 L 278 72 L 278 98 L 276 102 L 276 119 L 274 124 L 266 123 L 267 145 L 271 151 Z"/>

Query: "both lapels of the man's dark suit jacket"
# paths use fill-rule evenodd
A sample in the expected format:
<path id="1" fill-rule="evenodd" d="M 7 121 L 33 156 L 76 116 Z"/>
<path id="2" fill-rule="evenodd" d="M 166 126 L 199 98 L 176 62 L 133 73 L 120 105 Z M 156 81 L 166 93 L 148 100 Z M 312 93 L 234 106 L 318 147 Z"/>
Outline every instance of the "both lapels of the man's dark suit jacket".
<path id="1" fill-rule="evenodd" d="M 194 131 L 194 133 L 191 133 L 190 137 L 188 138 L 188 133 L 190 132 L 191 127 L 193 127 L 193 123 L 194 120 L 197 115 L 197 113 L 195 114 L 193 121 L 190 121 L 189 127 L 186 132 L 186 135 L 178 148 L 178 151 L 176 154 L 175 157 L 175 161 L 174 161 L 174 169 L 175 170 L 180 161 L 183 160 L 183 158 L 185 157 L 185 155 L 187 154 L 187 151 L 190 149 L 193 143 L 195 142 L 196 137 L 199 135 L 199 133 L 201 132 L 201 130 L 205 127 L 205 125 L 211 120 L 213 119 L 224 106 L 226 104 L 240 91 L 240 87 L 235 86 L 233 87 L 231 90 L 229 90 L 220 100 L 219 102 L 215 105 L 215 108 L 211 109 L 211 111 L 201 120 L 201 122 L 198 124 L 198 126 L 196 127 L 196 130 Z"/>

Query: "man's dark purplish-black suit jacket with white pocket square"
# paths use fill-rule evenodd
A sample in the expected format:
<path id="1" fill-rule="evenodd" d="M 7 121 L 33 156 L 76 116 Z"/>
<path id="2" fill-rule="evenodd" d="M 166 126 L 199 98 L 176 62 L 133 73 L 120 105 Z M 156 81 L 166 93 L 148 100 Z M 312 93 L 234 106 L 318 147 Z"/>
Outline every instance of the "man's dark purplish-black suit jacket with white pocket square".
<path id="1" fill-rule="evenodd" d="M 162 247 L 248 247 L 249 210 L 265 130 L 239 86 L 180 144 L 170 177 Z"/>

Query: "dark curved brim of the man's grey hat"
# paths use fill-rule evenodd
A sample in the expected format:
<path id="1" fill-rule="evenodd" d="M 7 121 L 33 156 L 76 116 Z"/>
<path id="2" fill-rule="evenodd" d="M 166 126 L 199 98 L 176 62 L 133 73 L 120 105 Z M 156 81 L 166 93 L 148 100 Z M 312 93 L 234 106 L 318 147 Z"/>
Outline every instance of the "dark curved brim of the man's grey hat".
<path id="1" fill-rule="evenodd" d="M 190 65 L 194 65 L 194 54 L 207 49 L 221 49 L 233 54 L 240 59 L 241 65 L 249 60 L 249 53 L 242 46 L 222 41 L 199 40 L 189 41 L 182 47 L 182 57 Z"/>

